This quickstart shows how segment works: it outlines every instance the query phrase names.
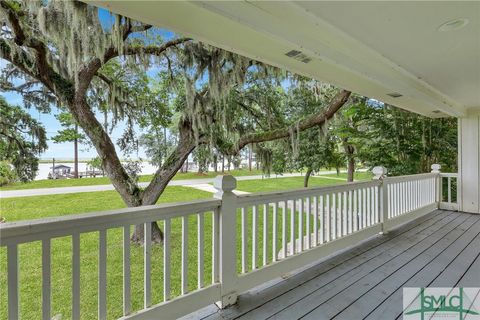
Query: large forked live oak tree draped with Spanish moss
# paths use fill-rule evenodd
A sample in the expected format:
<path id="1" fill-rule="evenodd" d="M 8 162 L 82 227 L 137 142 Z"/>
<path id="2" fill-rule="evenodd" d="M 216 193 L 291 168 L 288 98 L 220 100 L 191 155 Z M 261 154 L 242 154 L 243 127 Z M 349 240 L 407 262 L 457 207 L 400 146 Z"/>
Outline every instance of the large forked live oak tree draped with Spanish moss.
<path id="1" fill-rule="evenodd" d="M 44 109 L 54 102 L 68 111 L 129 207 L 155 204 L 197 146 L 207 144 L 235 155 L 249 144 L 322 125 L 350 95 L 337 90 L 324 108 L 295 123 L 247 130 L 241 126 L 245 121 L 237 118 L 247 111 L 234 103 L 235 95 L 240 93 L 242 99 L 237 100 L 244 102 L 245 82 L 252 74 L 276 74 L 271 67 L 189 38 L 160 39 L 152 26 L 127 17 L 112 14 L 114 22 L 102 25 L 97 9 L 81 2 L 1 0 L 0 8 L 0 58 L 10 63 L 1 74 L 2 88 L 19 92 Z M 163 74 L 168 101 L 150 83 L 151 66 Z M 18 85 L 19 78 L 23 84 Z M 252 105 L 247 105 L 248 112 L 262 110 L 261 101 Z M 109 125 L 126 124 L 118 144 L 128 151 L 138 145 L 135 129 L 151 129 L 171 106 L 180 114 L 170 120 L 178 130 L 176 144 L 150 184 L 141 189 L 135 175 L 122 165 Z M 103 124 L 97 119 L 102 114 Z M 132 240 L 141 243 L 143 236 L 143 225 L 135 226 Z M 162 240 L 156 223 L 152 238 Z"/>

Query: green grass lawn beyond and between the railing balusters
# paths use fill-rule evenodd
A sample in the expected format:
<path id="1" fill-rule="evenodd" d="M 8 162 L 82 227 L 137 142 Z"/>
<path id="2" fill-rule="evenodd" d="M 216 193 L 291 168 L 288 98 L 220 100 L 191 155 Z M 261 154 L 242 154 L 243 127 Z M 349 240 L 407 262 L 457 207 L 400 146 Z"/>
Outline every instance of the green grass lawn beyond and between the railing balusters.
<path id="1" fill-rule="evenodd" d="M 333 175 L 332 177 L 336 177 Z M 359 178 L 366 178 L 359 175 Z M 340 180 L 312 177 L 311 186 L 342 183 Z M 263 180 L 238 181 L 238 189 L 257 192 L 301 188 L 302 177 L 272 178 Z M 159 202 L 177 202 L 194 199 L 208 199 L 212 194 L 188 187 L 168 187 Z M 60 194 L 51 196 L 36 196 L 25 198 L 7 198 L 1 200 L 0 216 L 7 221 L 36 219 L 52 216 L 86 213 L 92 211 L 123 208 L 120 196 L 115 191 Z M 263 210 L 258 213 L 258 264 L 262 264 L 263 253 Z M 287 213 L 287 230 L 290 230 L 290 212 Z M 281 234 L 281 210 L 279 210 L 277 229 Z M 267 207 L 269 221 L 273 219 L 273 210 Z M 204 214 L 205 221 L 205 283 L 211 283 L 211 213 Z M 240 221 L 240 210 L 237 212 Z M 249 250 L 251 250 L 251 220 L 252 209 L 247 210 L 249 221 Z M 296 214 L 298 225 L 298 214 Z M 197 285 L 197 219 L 189 216 L 189 265 L 188 287 L 194 290 Z M 303 218 L 306 221 L 306 216 Z M 313 218 L 312 218 L 313 225 Z M 163 228 L 163 222 L 160 222 Z M 240 223 L 237 223 L 237 237 L 240 239 Z M 312 227 L 311 227 L 312 228 Z M 304 230 L 306 226 L 304 227 Z M 271 245 L 272 230 L 269 229 L 268 240 Z M 288 231 L 289 235 L 290 232 Z M 277 249 L 281 248 L 281 239 L 277 238 Z M 288 241 L 290 241 L 288 236 Z M 172 220 L 171 235 L 171 270 L 172 294 L 180 294 L 181 271 L 181 219 Z M 107 233 L 107 309 L 108 318 L 118 318 L 122 312 L 122 230 L 110 229 Z M 241 268 L 241 243 L 237 243 L 238 264 Z M 272 260 L 269 253 L 268 261 Z M 248 254 L 248 265 L 251 268 L 251 251 Z M 152 302 L 163 301 L 163 247 L 154 245 L 152 248 Z M 41 318 L 41 243 L 33 242 L 19 246 L 20 261 L 20 316 L 22 319 Z M 132 303 L 133 310 L 143 306 L 143 248 L 133 245 L 131 248 L 132 270 Z M 81 235 L 81 315 L 82 319 L 96 318 L 97 315 L 97 266 L 98 266 L 98 233 L 90 232 Z M 7 266 L 6 248 L 0 248 L 0 319 L 7 318 Z M 71 238 L 62 237 L 52 240 L 52 316 L 61 314 L 63 319 L 71 317 Z"/>

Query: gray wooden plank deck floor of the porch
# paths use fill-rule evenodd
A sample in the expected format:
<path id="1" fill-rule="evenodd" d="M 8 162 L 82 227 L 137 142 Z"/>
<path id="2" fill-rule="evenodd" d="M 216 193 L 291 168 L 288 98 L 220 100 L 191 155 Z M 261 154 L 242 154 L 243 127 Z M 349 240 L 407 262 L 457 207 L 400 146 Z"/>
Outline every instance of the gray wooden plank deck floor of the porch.
<path id="1" fill-rule="evenodd" d="M 397 319 L 403 287 L 480 287 L 480 215 L 434 211 L 188 319 Z M 477 297 L 480 299 L 480 297 Z"/>

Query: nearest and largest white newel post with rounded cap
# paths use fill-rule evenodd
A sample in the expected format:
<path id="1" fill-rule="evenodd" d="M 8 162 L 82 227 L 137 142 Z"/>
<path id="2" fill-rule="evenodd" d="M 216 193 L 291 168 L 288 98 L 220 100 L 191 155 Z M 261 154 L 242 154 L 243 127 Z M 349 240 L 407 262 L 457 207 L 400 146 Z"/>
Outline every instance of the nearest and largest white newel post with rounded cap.
<path id="1" fill-rule="evenodd" d="M 222 200 L 220 208 L 220 308 L 235 304 L 237 301 L 237 245 L 236 216 L 237 196 L 232 192 L 237 180 L 231 175 L 217 176 L 213 182 L 217 189 L 214 197 Z"/>

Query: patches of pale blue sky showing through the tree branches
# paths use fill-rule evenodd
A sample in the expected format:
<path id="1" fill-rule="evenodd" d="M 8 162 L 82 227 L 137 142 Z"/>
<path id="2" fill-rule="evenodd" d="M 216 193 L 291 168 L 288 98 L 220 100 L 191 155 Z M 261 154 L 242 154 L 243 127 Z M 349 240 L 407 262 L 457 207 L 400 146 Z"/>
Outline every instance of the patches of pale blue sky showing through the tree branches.
<path id="1" fill-rule="evenodd" d="M 99 10 L 99 18 L 100 22 L 104 27 L 111 26 L 113 23 L 113 17 L 112 15 L 104 10 L 100 9 Z M 174 37 L 174 33 L 169 31 L 169 30 L 158 30 L 157 31 L 164 39 L 170 39 Z M 3 59 L 0 59 L 0 70 L 5 68 L 7 65 L 6 61 Z M 154 76 L 158 72 L 158 69 L 152 68 L 148 70 L 148 74 L 150 76 Z M 23 106 L 23 99 L 21 95 L 14 93 L 14 92 L 0 92 L 0 95 L 5 98 L 5 100 L 12 105 L 19 105 Z M 67 143 L 54 143 L 51 138 L 57 134 L 59 130 L 62 130 L 62 126 L 58 122 L 58 120 L 55 118 L 55 115 L 59 113 L 59 110 L 52 106 L 52 110 L 50 113 L 40 113 L 36 109 L 28 109 L 27 110 L 30 115 L 39 120 L 43 126 L 45 127 L 45 130 L 47 131 L 47 138 L 49 139 L 48 143 L 48 149 L 40 155 L 41 159 L 73 159 L 73 143 L 67 142 Z M 124 129 L 123 125 L 119 125 L 112 133 L 111 138 L 116 144 L 116 140 L 121 136 L 122 131 Z M 121 152 L 118 150 L 119 154 Z M 86 145 L 80 145 L 79 147 L 79 158 L 80 159 L 91 159 L 93 157 L 97 156 L 97 152 L 95 148 L 89 147 Z M 135 156 L 136 157 L 136 156 Z M 134 157 L 134 158 L 135 158 Z M 143 149 L 139 150 L 138 153 L 139 158 L 146 158 L 145 151 Z"/>

